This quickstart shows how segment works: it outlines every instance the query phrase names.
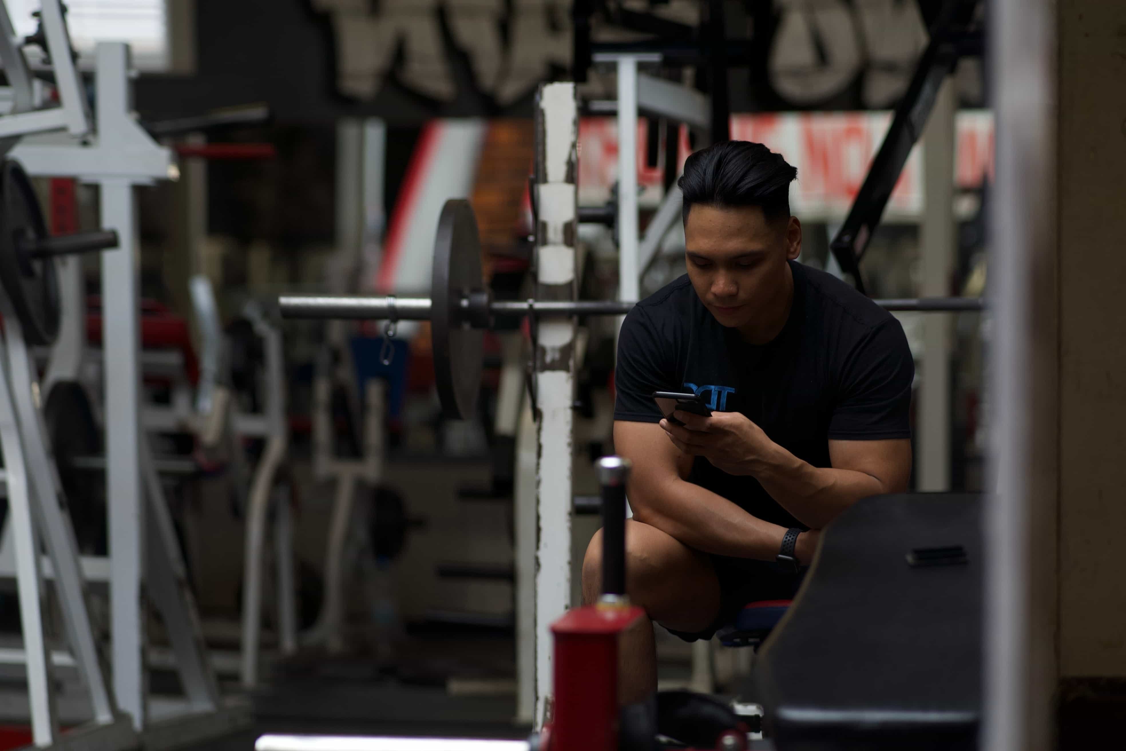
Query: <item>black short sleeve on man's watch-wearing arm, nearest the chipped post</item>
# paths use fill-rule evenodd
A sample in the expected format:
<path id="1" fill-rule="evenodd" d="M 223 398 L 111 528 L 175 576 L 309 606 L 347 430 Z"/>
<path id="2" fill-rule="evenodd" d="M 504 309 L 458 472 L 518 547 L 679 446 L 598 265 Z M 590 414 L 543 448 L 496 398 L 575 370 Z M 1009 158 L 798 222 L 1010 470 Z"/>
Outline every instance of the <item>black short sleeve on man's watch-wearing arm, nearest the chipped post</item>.
<path id="1" fill-rule="evenodd" d="M 627 422 L 660 422 L 654 391 L 668 391 L 673 342 L 661 337 L 649 313 L 635 306 L 618 333 L 618 364 L 614 370 L 617 397 L 614 419 Z"/>

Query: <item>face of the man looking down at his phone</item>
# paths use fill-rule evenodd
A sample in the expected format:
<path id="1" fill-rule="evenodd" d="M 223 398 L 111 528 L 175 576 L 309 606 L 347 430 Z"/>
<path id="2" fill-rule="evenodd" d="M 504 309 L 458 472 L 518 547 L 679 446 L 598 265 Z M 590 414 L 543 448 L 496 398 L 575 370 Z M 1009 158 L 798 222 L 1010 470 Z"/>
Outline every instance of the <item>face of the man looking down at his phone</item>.
<path id="1" fill-rule="evenodd" d="M 758 206 L 694 204 L 685 247 L 700 302 L 722 325 L 738 329 L 787 304 L 786 261 L 802 252 L 802 224 L 793 216 L 768 221 Z"/>

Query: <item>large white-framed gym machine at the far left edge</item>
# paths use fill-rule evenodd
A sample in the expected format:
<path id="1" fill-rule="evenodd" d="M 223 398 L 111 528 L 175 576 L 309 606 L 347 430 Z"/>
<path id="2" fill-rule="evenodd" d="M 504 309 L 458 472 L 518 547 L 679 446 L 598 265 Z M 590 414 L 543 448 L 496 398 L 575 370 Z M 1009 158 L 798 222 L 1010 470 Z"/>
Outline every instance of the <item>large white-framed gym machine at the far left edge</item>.
<path id="1" fill-rule="evenodd" d="M 175 178 L 167 149 L 158 146 L 131 114 L 128 48 L 102 43 L 96 51 L 97 118 L 92 120 L 74 69 L 63 9 L 43 0 L 42 33 L 27 43 L 45 44 L 53 68 L 59 106 L 50 106 L 46 87 L 34 78 L 15 38 L 7 8 L 0 5 L 0 57 L 10 86 L 11 109 L 0 117 L 0 135 L 9 157 L 35 175 L 73 175 L 100 188 L 101 223 L 111 233 L 64 242 L 47 239 L 38 202 L 16 162 L 3 168 L 2 221 L 6 272 L 0 274 L 5 316 L 0 374 L 0 448 L 5 455 L 8 494 L 9 571 L 17 580 L 23 649 L 5 652 L 6 662 L 26 673 L 26 710 L 37 746 L 97 744 L 104 749 L 150 748 L 189 743 L 230 732 L 245 722 L 244 709 L 225 706 L 207 664 L 195 606 L 160 482 L 140 431 L 137 357 L 137 278 L 134 265 L 136 218 L 133 186 Z M 96 126 L 96 127 L 95 127 Z M 61 133 L 65 131 L 65 133 Z M 42 134 L 42 135 L 36 135 Z M 16 140 L 19 142 L 16 143 Z M 28 346 L 50 345 L 59 333 L 60 289 L 56 257 L 119 248 L 102 254 L 102 302 L 106 355 L 108 561 L 80 560 L 45 440 L 37 372 Z M 144 543 L 142 535 L 145 536 Z M 39 555 L 44 544 L 46 556 Z M 2 546 L 0 546 L 2 547 Z M 2 566 L 0 566 L 2 567 Z M 87 581 L 100 574 L 110 589 L 110 685 L 98 633 L 87 599 Z M 50 649 L 42 610 L 44 578 L 53 578 L 63 613 L 70 652 Z M 163 616 L 187 703 L 158 706 L 146 691 L 144 607 L 151 601 Z M 56 706 L 52 665 L 75 665 L 90 695 L 92 723 L 60 734 L 60 724 L 81 724 L 83 716 L 63 717 Z M 18 703 L 8 706 L 15 708 Z M 90 713 L 84 714 L 89 718 Z M 154 722 L 160 718 L 162 722 Z"/>

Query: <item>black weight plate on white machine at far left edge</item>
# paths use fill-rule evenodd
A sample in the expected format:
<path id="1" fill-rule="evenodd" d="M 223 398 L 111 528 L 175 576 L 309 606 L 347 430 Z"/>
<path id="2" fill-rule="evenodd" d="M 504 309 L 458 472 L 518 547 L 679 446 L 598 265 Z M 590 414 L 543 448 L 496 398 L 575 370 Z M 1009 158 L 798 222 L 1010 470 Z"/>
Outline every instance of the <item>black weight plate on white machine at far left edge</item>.
<path id="1" fill-rule="evenodd" d="M 59 333 L 59 278 L 51 259 L 30 260 L 17 239 L 47 236 L 32 181 L 14 160 L 0 168 L 0 283 L 30 345 L 50 345 Z"/>

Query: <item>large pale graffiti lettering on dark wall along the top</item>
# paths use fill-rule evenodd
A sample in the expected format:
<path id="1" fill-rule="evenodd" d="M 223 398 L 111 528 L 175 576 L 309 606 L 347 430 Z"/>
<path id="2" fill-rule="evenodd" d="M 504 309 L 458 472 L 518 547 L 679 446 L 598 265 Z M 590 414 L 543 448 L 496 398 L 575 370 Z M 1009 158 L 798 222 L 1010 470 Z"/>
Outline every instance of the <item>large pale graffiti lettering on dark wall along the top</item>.
<path id="1" fill-rule="evenodd" d="M 338 90 L 376 97 L 388 78 L 437 101 L 456 98 L 455 68 L 467 65 L 476 92 L 512 104 L 571 65 L 568 0 L 312 0 L 332 21 Z M 646 7 L 644 2 L 623 5 Z M 882 109 L 906 88 L 927 44 L 913 0 L 772 0 L 727 3 L 733 38 L 758 52 L 731 78 L 732 109 Z M 677 23 L 699 24 L 697 0 L 651 6 Z M 596 18 L 595 38 L 629 38 Z M 636 37 L 636 35 L 634 35 Z M 757 44 L 761 43 L 761 45 Z M 964 99 L 981 98 L 981 70 L 966 61 Z"/>

